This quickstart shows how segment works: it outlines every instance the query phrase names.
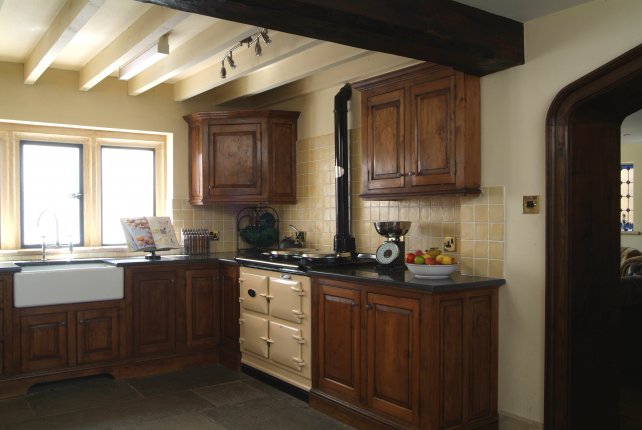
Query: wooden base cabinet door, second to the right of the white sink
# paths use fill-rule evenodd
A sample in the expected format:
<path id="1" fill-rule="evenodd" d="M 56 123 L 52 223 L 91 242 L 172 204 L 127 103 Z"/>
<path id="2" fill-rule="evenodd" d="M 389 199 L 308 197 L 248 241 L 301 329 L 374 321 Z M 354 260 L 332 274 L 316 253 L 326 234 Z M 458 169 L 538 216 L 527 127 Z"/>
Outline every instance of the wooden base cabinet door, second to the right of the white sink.
<path id="1" fill-rule="evenodd" d="M 188 270 L 185 287 L 187 347 L 215 347 L 219 339 L 218 271 Z"/>

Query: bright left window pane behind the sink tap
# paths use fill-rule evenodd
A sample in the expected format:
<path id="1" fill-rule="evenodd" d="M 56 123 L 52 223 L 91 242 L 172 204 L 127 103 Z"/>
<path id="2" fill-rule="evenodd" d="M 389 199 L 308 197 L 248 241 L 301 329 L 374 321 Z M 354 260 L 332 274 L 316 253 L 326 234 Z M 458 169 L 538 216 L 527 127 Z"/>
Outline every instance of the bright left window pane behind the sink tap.
<path id="1" fill-rule="evenodd" d="M 81 244 L 82 147 L 21 142 L 22 246 Z"/>

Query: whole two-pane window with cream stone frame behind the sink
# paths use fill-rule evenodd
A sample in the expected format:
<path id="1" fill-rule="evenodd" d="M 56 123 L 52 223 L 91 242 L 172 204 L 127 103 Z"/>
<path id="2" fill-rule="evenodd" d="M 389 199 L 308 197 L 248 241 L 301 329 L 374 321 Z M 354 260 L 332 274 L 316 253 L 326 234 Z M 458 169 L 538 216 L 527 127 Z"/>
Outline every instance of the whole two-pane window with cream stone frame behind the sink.
<path id="1" fill-rule="evenodd" d="M 120 218 L 167 213 L 167 139 L 0 122 L 1 248 L 124 246 Z"/>

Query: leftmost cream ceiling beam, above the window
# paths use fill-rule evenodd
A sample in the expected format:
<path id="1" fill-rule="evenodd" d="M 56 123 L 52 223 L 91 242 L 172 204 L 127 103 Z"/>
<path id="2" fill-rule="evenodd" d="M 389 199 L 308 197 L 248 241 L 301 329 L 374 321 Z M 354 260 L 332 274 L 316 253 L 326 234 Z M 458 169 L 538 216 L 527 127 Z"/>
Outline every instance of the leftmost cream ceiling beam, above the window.
<path id="1" fill-rule="evenodd" d="M 24 83 L 34 84 L 105 0 L 69 0 L 43 34 L 24 65 Z"/>

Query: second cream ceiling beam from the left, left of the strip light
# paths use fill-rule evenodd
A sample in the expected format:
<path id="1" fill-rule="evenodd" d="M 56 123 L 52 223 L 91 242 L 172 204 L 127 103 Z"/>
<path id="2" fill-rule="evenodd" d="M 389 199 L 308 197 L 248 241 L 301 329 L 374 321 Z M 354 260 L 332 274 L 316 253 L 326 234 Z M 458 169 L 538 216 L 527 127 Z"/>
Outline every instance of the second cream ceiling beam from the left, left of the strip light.
<path id="1" fill-rule="evenodd" d="M 158 43 L 189 14 L 154 6 L 80 70 L 79 88 L 88 91 L 119 67 Z"/>

